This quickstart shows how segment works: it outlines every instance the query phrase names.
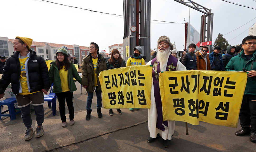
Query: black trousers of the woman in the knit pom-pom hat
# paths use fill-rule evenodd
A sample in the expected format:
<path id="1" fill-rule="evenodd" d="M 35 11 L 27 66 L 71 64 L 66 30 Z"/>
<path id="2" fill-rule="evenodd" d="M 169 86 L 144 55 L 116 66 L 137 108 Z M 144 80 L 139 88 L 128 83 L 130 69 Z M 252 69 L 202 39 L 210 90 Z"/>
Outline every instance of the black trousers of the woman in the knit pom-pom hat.
<path id="1" fill-rule="evenodd" d="M 67 91 L 67 92 L 56 93 L 56 95 L 59 100 L 61 121 L 66 122 L 65 99 L 68 106 L 69 120 L 74 120 L 74 105 L 73 105 L 72 93 L 70 91 Z"/>

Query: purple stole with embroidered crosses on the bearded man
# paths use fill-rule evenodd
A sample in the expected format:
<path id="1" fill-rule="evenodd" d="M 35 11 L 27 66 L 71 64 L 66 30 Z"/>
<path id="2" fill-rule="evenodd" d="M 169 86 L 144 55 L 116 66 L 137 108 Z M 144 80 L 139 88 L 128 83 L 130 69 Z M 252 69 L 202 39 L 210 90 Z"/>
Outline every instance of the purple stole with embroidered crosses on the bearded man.
<path id="1" fill-rule="evenodd" d="M 172 55 L 169 55 L 165 71 L 175 71 L 177 67 L 177 62 L 178 59 L 174 58 Z M 157 73 L 161 72 L 160 63 L 157 62 L 157 57 L 151 61 L 151 64 L 153 65 L 153 68 Z M 159 79 L 158 74 L 155 73 L 154 70 L 152 72 L 152 77 L 154 84 L 155 105 L 157 108 L 157 128 L 164 131 L 165 128 L 163 125 L 168 127 L 168 123 L 167 121 L 163 122 L 162 100 L 160 96 Z"/>

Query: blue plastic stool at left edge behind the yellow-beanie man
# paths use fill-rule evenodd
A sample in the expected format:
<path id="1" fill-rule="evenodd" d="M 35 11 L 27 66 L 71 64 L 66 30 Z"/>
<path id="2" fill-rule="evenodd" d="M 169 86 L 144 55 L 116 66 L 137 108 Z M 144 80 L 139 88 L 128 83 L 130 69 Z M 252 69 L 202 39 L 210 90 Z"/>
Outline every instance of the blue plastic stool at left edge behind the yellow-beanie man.
<path id="1" fill-rule="evenodd" d="M 0 105 L 7 105 L 8 106 L 8 110 L 1 112 L 1 108 L 0 108 L 0 120 L 2 116 L 9 116 L 11 118 L 11 120 L 16 119 L 16 114 L 21 113 L 21 111 L 19 110 L 18 112 L 16 112 L 16 108 L 14 108 L 14 104 L 16 103 L 16 98 L 8 98 L 5 100 L 0 101 Z M 20 109 L 20 108 L 17 108 Z M 9 114 L 4 114 L 6 112 L 9 112 Z"/>

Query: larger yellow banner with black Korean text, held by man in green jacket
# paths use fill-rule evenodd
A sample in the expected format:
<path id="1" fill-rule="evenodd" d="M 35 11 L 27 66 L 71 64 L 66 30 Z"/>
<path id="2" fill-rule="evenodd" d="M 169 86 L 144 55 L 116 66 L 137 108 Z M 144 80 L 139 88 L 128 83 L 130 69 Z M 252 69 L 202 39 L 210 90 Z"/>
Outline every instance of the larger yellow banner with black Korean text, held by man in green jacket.
<path id="1" fill-rule="evenodd" d="M 237 128 L 245 72 L 172 71 L 159 75 L 163 120 Z"/>

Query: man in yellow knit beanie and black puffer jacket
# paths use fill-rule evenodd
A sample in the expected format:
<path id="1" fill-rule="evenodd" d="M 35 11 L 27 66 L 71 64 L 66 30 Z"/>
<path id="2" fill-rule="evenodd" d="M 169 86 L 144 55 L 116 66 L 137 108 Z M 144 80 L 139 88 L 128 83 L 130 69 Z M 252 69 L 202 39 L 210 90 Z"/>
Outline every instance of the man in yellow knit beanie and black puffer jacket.
<path id="1" fill-rule="evenodd" d="M 15 94 L 22 113 L 21 118 L 27 127 L 25 140 L 30 140 L 34 132 L 36 138 L 44 134 L 42 126 L 44 122 L 43 93 L 47 94 L 50 88 L 45 60 L 30 49 L 31 45 L 31 38 L 16 37 L 13 40 L 15 52 L 6 60 L 0 79 L 0 99 L 8 85 L 12 84 L 12 92 Z M 33 105 L 36 114 L 36 131 L 31 126 L 30 104 Z"/>

